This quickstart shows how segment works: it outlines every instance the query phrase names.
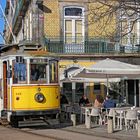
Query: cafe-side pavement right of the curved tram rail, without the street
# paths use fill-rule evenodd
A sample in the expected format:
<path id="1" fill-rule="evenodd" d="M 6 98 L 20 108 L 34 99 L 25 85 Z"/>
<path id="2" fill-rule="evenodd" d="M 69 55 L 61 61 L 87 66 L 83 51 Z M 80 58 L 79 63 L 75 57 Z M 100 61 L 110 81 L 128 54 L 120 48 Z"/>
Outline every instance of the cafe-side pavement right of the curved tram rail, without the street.
<path id="1" fill-rule="evenodd" d="M 109 134 L 107 132 L 107 125 L 92 125 L 92 127 L 88 129 L 85 127 L 85 124 L 72 126 L 72 124 L 66 122 L 50 128 L 44 126 L 44 128 L 36 129 L 34 127 L 33 129 L 29 129 L 29 132 L 64 140 L 140 140 L 137 136 L 136 129 L 125 130 L 123 128 L 123 130 L 116 130 Z"/>

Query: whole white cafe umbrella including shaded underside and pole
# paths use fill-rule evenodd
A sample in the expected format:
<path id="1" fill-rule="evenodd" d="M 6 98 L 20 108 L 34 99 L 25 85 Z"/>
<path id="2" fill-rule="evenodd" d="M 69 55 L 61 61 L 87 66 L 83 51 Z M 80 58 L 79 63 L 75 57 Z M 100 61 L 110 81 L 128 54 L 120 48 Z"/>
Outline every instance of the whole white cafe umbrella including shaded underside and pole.
<path id="1" fill-rule="evenodd" d="M 118 81 L 119 79 L 139 79 L 140 66 L 124 63 L 112 59 L 105 59 L 97 62 L 90 68 L 85 68 L 83 71 L 73 76 L 75 78 L 92 79 L 95 81 L 107 81 L 107 94 L 108 84 L 112 80 Z M 118 80 L 116 80 L 118 78 Z"/>

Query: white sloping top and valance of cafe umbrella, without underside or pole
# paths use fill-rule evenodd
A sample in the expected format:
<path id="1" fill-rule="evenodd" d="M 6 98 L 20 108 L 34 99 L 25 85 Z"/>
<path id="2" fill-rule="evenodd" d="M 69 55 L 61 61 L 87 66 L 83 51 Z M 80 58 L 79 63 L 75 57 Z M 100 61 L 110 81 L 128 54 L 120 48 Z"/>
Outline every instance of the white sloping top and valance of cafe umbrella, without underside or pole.
<path id="1" fill-rule="evenodd" d="M 140 74 L 140 66 L 124 63 L 112 59 L 105 59 L 97 62 L 90 68 L 86 68 L 87 73 L 103 74 Z"/>

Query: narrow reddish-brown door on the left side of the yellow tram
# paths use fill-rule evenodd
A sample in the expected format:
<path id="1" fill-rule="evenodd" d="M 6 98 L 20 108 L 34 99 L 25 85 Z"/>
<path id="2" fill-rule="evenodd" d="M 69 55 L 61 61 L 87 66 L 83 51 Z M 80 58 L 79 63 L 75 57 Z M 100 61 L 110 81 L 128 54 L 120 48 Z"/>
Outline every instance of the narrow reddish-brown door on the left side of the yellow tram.
<path id="1" fill-rule="evenodd" d="M 7 109 L 7 62 L 3 62 L 4 109 Z"/>

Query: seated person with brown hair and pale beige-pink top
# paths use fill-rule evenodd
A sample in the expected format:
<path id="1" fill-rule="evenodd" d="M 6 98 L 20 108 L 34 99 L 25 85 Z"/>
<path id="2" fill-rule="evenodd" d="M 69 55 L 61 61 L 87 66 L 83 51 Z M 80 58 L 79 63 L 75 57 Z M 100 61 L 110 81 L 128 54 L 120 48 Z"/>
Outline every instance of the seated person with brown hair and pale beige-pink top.
<path id="1" fill-rule="evenodd" d="M 96 99 L 95 99 L 95 102 L 94 102 L 94 107 L 95 108 L 103 107 L 103 102 L 104 102 L 103 97 L 101 95 L 97 95 Z"/>

